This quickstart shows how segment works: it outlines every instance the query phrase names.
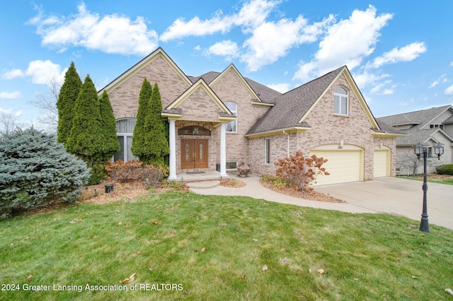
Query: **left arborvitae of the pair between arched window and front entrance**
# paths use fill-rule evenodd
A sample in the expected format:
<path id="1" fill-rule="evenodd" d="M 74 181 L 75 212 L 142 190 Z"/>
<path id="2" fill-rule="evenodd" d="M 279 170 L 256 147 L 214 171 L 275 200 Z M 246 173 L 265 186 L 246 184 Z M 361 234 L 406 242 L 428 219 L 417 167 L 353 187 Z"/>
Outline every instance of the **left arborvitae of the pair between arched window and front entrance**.
<path id="1" fill-rule="evenodd" d="M 137 122 L 134 127 L 134 136 L 132 136 L 132 147 L 130 148 L 132 154 L 139 157 L 141 160 L 147 155 L 147 151 L 144 148 L 144 122 L 148 113 L 148 103 L 151 99 L 152 92 L 153 87 L 145 78 L 142 83 L 142 89 L 140 90 Z"/>

